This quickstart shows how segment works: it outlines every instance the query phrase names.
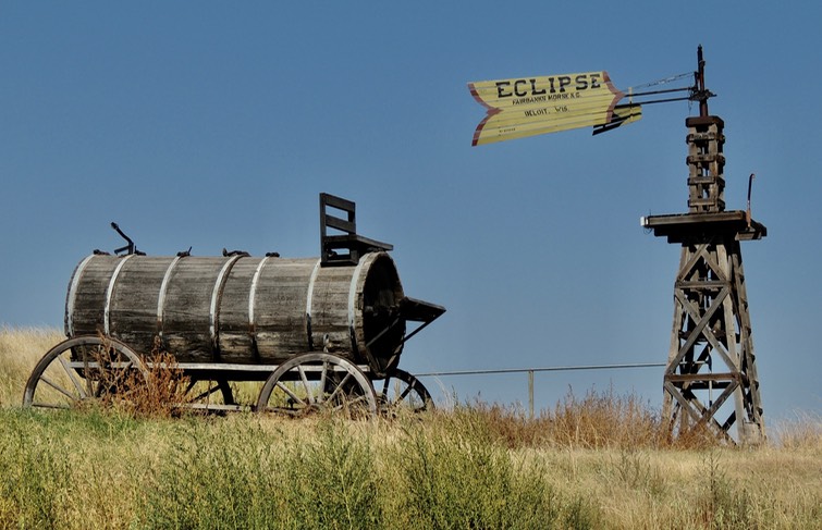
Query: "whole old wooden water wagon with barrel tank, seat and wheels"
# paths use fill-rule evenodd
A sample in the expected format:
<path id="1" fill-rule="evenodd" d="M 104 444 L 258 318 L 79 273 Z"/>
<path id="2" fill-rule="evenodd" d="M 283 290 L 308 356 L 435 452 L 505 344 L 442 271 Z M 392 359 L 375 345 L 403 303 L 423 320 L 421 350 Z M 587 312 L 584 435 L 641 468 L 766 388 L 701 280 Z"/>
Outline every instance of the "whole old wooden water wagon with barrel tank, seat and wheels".
<path id="1" fill-rule="evenodd" d="M 33 371 L 24 406 L 109 395 L 147 374 L 158 352 L 188 381 L 188 406 L 302 415 L 430 405 L 398 363 L 405 342 L 445 309 L 405 296 L 392 246 L 356 233 L 354 202 L 320 195 L 319 258 L 146 256 L 112 225 L 127 245 L 74 270 L 68 340 Z M 265 382 L 255 403 L 235 400 L 234 383 L 246 381 Z"/>

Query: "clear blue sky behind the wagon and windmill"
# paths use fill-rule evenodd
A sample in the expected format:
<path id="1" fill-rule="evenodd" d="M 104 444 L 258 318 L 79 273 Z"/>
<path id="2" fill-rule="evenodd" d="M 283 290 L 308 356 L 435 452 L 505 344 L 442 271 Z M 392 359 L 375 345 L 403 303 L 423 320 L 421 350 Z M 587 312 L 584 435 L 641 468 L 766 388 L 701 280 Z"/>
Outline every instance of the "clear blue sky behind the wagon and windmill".
<path id="1" fill-rule="evenodd" d="M 696 67 L 725 121 L 765 418 L 820 412 L 815 2 L 0 1 L 0 325 L 62 326 L 95 248 L 318 255 L 317 195 L 358 206 L 405 291 L 447 307 L 412 372 L 664 362 L 679 247 L 639 218 L 687 210 L 688 103 L 590 130 L 471 147 L 466 83 L 606 70 L 627 88 Z M 428 381 L 437 390 L 440 384 Z M 525 374 L 443 379 L 526 399 Z M 652 404 L 662 369 L 537 375 Z M 439 390 L 438 390 L 439 392 Z"/>

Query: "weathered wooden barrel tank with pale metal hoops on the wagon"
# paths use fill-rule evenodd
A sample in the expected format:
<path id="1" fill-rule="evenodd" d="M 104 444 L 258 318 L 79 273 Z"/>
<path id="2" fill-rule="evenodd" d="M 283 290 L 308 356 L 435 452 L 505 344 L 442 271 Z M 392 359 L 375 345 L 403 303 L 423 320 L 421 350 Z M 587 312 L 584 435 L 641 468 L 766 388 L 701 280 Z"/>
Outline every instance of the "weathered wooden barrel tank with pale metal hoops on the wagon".
<path id="1" fill-rule="evenodd" d="M 159 345 L 181 363 L 279 365 L 324 349 L 382 371 L 402 348 L 403 297 L 382 251 L 336 267 L 319 258 L 93 255 L 69 284 L 65 332 L 102 333 L 142 354 Z"/>

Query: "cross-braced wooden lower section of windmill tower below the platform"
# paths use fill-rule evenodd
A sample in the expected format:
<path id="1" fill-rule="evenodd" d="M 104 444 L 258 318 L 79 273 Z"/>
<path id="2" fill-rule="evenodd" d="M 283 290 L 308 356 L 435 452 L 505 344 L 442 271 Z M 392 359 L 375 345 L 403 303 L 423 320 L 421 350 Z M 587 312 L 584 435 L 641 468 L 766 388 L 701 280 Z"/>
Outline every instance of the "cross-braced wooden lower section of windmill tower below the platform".
<path id="1" fill-rule="evenodd" d="M 765 439 L 741 263 L 733 233 L 683 243 L 663 384 L 672 432 L 704 428 L 740 444 Z"/>

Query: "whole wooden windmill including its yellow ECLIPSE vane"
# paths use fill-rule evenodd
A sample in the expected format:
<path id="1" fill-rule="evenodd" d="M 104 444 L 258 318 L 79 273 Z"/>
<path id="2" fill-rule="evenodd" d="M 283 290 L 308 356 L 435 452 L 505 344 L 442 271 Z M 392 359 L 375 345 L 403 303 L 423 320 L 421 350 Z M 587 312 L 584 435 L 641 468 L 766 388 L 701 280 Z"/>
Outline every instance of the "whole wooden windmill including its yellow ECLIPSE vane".
<path id="1" fill-rule="evenodd" d="M 587 126 L 597 135 L 637 122 L 643 104 L 699 102 L 699 116 L 685 121 L 688 212 L 642 218 L 655 235 L 682 245 L 663 414 L 672 432 L 707 429 L 731 443 L 757 444 L 765 431 L 739 243 L 768 231 L 750 217 L 750 181 L 748 210 L 725 211 L 724 123 L 708 113 L 713 94 L 704 86 L 701 46 L 697 59 L 690 87 L 655 88 L 691 75 L 679 74 L 626 94 L 605 71 L 468 83 L 486 109 L 471 145 Z M 678 91 L 688 95 L 670 97 Z"/>

